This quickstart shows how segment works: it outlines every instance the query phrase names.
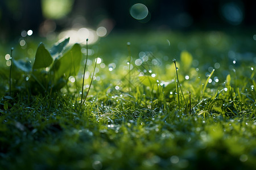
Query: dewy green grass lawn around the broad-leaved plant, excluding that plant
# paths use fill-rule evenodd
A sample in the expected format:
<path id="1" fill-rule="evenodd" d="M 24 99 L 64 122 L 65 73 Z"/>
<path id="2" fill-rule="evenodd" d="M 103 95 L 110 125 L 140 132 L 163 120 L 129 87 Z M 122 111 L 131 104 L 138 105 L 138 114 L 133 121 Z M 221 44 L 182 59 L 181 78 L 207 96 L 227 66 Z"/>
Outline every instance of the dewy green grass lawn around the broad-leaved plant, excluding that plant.
<path id="1" fill-rule="evenodd" d="M 171 44 L 182 42 L 180 46 L 169 46 L 170 37 Z M 253 169 L 255 49 L 250 46 L 255 42 L 246 38 L 223 32 L 109 35 L 101 40 L 97 69 L 92 62 L 96 57 L 88 56 L 84 84 L 85 91 L 91 90 L 82 107 L 76 88 L 84 87 L 84 67 L 77 86 L 69 81 L 51 95 L 32 95 L 26 87 L 14 91 L 13 86 L 13 98 L 8 97 L 9 78 L 3 79 L 0 168 Z M 32 42 L 28 46 L 36 46 Z M 242 42 L 248 43 L 246 50 Z M 247 53 L 253 57 L 246 60 Z M 5 53 L 1 55 L 4 59 Z M 182 94 L 176 91 L 177 77 Z M 183 99 L 178 101 L 177 95 Z"/>

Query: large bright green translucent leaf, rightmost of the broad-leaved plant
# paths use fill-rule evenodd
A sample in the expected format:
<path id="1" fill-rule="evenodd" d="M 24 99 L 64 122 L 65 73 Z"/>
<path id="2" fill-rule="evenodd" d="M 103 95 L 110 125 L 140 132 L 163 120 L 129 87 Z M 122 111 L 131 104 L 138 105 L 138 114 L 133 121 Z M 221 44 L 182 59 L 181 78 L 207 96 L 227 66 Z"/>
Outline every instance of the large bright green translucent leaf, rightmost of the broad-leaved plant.
<path id="1" fill-rule="evenodd" d="M 54 63 L 52 71 L 55 71 L 55 82 L 57 82 L 57 80 L 64 74 L 66 76 L 76 75 L 81 65 L 81 59 L 81 46 L 79 44 L 75 44 L 67 53 L 65 53 L 61 58 L 58 58 Z"/>

